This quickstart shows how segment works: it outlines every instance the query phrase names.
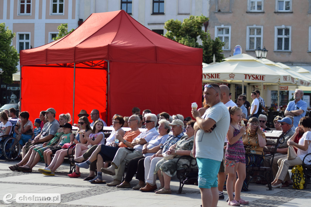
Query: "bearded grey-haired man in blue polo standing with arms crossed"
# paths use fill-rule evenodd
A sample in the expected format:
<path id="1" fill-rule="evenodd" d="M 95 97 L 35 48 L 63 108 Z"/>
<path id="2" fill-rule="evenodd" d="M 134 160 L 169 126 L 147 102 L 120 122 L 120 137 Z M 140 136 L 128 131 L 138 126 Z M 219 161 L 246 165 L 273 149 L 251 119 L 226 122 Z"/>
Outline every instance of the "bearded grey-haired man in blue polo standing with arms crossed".
<path id="1" fill-rule="evenodd" d="M 294 93 L 293 101 L 290 101 L 287 104 L 287 108 L 285 110 L 285 116 L 294 117 L 294 126 L 298 127 L 299 120 L 306 115 L 307 103 L 302 99 L 304 95 L 304 91 L 300 89 L 296 89 Z"/>

